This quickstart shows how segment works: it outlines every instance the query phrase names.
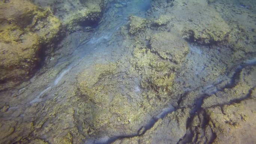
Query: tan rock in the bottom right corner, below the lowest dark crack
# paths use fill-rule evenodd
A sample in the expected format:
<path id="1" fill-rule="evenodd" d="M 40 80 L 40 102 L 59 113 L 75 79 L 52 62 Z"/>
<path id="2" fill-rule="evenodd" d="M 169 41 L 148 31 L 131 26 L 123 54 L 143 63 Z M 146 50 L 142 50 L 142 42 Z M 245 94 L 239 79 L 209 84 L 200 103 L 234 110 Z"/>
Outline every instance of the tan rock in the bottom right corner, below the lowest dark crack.
<path id="1" fill-rule="evenodd" d="M 207 108 L 194 117 L 190 129 L 196 133 L 188 132 L 188 137 L 191 137 L 192 143 L 254 143 L 256 114 L 253 105 L 255 98 Z"/>

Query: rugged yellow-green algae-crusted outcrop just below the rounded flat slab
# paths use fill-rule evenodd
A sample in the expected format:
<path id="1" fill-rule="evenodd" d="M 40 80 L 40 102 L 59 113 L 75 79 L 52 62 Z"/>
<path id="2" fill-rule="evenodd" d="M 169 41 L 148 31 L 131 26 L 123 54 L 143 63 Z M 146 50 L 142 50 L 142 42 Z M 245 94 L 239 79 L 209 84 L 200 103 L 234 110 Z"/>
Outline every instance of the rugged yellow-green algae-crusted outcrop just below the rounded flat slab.
<path id="1" fill-rule="evenodd" d="M 141 74 L 140 86 L 147 90 L 143 95 L 150 103 L 167 98 L 168 92 L 173 86 L 176 64 L 163 60 L 158 55 L 150 52 L 150 49 L 136 45 L 133 51 L 134 58 L 130 59 L 133 67 Z M 161 101 L 160 100 L 160 101 Z"/>

